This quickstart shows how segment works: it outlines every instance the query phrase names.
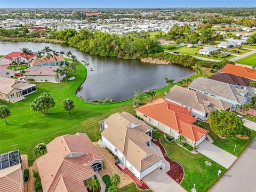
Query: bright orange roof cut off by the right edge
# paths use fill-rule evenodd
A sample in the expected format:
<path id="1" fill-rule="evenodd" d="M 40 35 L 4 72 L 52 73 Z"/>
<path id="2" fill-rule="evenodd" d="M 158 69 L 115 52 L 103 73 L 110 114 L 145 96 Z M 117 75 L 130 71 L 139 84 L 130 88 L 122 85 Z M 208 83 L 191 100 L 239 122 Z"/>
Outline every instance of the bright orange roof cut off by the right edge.
<path id="1" fill-rule="evenodd" d="M 223 67 L 221 73 L 228 73 L 256 81 L 256 71 L 244 66 L 227 64 L 225 67 Z"/>

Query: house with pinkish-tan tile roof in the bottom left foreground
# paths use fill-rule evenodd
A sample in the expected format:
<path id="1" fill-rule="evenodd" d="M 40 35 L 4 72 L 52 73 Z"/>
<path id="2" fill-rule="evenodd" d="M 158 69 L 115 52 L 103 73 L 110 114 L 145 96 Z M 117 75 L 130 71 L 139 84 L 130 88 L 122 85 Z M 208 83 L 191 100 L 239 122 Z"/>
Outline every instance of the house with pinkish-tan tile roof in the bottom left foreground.
<path id="1" fill-rule="evenodd" d="M 36 162 L 44 192 L 86 192 L 95 172 L 102 170 L 103 157 L 85 133 L 62 135 L 46 148 Z"/>

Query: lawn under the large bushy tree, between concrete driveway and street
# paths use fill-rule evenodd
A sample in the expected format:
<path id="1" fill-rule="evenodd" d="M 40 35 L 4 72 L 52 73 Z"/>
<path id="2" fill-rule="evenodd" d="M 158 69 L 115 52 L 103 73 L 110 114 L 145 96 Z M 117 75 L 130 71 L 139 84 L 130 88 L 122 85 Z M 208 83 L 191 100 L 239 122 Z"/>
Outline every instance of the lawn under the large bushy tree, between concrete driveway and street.
<path id="1" fill-rule="evenodd" d="M 209 123 L 205 123 L 205 122 L 202 122 L 202 123 L 204 125 L 203 128 L 210 131 L 209 135 L 214 140 L 213 144 L 215 146 L 218 146 L 221 149 L 226 150 L 228 151 L 228 153 L 233 154 L 237 157 L 245 150 L 245 148 L 247 147 L 247 145 L 249 145 L 249 143 L 253 140 L 253 138 L 256 137 L 256 131 L 252 131 L 252 134 L 248 140 L 239 139 L 237 137 L 221 139 L 217 134 L 211 131 Z M 236 145 L 236 150 L 234 152 L 235 145 Z"/>

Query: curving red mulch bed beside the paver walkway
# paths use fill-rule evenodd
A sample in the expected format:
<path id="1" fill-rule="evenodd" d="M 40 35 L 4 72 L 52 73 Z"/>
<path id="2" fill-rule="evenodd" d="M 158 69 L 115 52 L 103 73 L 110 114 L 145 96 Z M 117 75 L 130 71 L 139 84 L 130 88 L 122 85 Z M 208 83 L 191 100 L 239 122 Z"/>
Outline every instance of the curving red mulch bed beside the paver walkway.
<path id="1" fill-rule="evenodd" d="M 157 138 L 157 141 L 153 142 L 161 149 L 162 153 L 165 154 L 164 146 L 162 146 L 160 140 Z M 168 156 L 164 156 L 164 158 L 171 166 L 171 170 L 166 173 L 176 182 L 180 183 L 184 175 L 182 166 L 179 163 L 172 161 Z"/>

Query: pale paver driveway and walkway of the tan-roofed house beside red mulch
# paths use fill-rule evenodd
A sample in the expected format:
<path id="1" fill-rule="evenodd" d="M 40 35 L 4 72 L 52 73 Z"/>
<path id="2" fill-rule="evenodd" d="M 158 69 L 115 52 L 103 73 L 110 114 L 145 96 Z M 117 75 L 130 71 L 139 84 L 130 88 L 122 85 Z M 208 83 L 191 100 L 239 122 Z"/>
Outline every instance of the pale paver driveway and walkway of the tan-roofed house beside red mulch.
<path id="1" fill-rule="evenodd" d="M 154 143 L 151 143 L 151 145 L 153 150 L 163 157 L 161 149 Z M 145 178 L 143 178 L 143 181 L 156 192 L 185 192 L 186 190 L 184 188 L 182 188 L 176 181 L 166 174 L 166 172 L 170 170 L 170 163 L 164 158 L 162 162 L 163 169 L 157 169 L 151 172 Z"/>

